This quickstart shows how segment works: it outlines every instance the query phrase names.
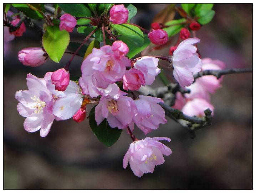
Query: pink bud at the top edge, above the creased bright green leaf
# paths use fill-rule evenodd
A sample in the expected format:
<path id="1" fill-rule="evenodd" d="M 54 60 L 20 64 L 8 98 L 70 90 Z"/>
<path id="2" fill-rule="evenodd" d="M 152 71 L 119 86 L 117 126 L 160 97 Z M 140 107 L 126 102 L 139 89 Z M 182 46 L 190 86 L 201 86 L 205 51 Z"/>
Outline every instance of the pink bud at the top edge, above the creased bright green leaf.
<path id="1" fill-rule="evenodd" d="M 128 21 L 129 11 L 124 5 L 113 5 L 109 11 L 110 18 L 114 24 L 126 23 Z"/>

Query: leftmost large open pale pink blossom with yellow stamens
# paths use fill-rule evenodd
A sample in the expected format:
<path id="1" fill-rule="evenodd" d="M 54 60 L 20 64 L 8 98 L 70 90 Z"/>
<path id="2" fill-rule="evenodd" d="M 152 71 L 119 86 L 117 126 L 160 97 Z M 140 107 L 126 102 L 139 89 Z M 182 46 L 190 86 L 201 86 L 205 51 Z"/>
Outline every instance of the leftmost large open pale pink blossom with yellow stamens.
<path id="1" fill-rule="evenodd" d="M 17 91 L 15 98 L 19 101 L 17 110 L 21 116 L 26 117 L 24 128 L 28 132 L 40 129 L 40 135 L 45 137 L 51 128 L 55 116 L 52 114 L 54 98 L 46 87 L 47 74 L 39 79 L 27 74 L 27 87 L 29 90 Z"/>

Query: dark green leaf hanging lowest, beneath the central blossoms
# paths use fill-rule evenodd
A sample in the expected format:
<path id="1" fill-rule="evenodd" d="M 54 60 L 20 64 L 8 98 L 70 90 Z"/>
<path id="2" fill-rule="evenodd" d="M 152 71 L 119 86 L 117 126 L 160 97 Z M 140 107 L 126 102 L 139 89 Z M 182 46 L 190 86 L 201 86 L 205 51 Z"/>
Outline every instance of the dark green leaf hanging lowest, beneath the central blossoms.
<path id="1" fill-rule="evenodd" d="M 95 136 L 99 139 L 99 141 L 110 147 L 111 145 L 117 142 L 123 129 L 118 129 L 117 127 L 110 127 L 107 122 L 107 119 L 104 119 L 99 125 L 97 125 L 94 114 L 95 107 L 96 106 L 94 106 L 89 113 L 90 127 Z"/>

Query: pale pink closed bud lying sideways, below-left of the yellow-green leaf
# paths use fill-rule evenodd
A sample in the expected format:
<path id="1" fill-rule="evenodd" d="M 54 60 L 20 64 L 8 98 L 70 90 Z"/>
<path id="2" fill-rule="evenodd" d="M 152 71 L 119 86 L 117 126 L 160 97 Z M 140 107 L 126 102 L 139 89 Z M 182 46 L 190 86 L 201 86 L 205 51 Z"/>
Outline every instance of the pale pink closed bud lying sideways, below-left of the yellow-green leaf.
<path id="1" fill-rule="evenodd" d="M 24 48 L 18 52 L 18 57 L 23 65 L 36 67 L 46 62 L 48 54 L 42 48 Z"/>

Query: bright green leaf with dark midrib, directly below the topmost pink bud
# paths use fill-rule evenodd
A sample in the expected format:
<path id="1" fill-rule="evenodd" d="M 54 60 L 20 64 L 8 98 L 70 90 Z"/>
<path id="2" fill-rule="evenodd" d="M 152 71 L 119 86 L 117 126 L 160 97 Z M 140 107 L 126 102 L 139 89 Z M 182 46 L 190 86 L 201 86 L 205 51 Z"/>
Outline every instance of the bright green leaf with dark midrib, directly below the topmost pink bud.
<path id="1" fill-rule="evenodd" d="M 134 45 L 141 47 L 144 43 L 144 36 L 142 31 L 137 27 L 130 24 L 114 24 L 114 30 L 122 35 L 126 41 L 130 41 Z"/>

